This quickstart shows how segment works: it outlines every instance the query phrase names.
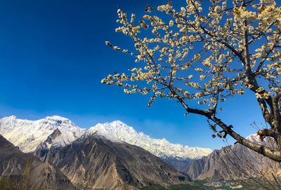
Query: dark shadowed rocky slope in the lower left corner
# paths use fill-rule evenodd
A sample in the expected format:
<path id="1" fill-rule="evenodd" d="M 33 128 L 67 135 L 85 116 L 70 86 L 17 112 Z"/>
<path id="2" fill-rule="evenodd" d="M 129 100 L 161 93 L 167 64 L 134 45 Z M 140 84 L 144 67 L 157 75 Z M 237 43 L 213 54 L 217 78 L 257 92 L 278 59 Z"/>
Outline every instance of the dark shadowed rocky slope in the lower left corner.
<path id="1" fill-rule="evenodd" d="M 70 180 L 50 163 L 22 153 L 0 135 L 0 179 L 10 189 L 75 189 Z M 0 186 L 5 188 L 4 186 Z"/>

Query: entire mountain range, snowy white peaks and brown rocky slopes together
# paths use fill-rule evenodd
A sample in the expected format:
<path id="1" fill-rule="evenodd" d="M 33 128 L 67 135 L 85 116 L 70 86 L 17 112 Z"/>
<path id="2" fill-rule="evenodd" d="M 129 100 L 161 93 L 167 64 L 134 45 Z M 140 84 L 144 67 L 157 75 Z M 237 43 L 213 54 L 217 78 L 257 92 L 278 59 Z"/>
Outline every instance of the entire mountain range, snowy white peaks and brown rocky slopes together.
<path id="1" fill-rule="evenodd" d="M 49 176 L 58 176 L 58 182 L 63 182 L 58 183 L 58 188 L 73 187 L 74 184 L 90 189 L 139 189 L 152 184 L 188 184 L 192 179 L 247 178 L 245 173 L 256 176 L 257 171 L 270 173 L 279 166 L 240 144 L 214 151 L 171 144 L 165 139 L 157 140 L 138 133 L 122 121 L 98 123 L 83 129 L 60 116 L 37 121 L 10 116 L 1 118 L 0 134 L 19 147 L 13 147 L 8 141 L 4 143 L 13 149 L 10 157 L 5 157 L 7 151 L 5 154 L 0 151 L 0 160 L 8 158 L 8 164 L 1 166 L 8 169 L 0 170 L 0 177 L 16 176 L 15 179 L 22 181 L 31 159 L 34 171 L 53 168 L 45 169 L 52 171 L 47 172 L 47 177 L 38 175 L 37 186 L 43 186 L 43 181 L 48 181 Z M 249 135 L 247 139 L 266 146 L 274 144 L 268 137 L 261 141 L 258 135 Z M 20 156 L 24 158 L 21 162 Z M 20 165 L 20 170 L 14 169 L 17 165 Z M 14 171 L 18 171 L 16 175 Z M 275 173 L 280 175 L 278 170 Z M 44 185 L 51 188 L 57 183 L 57 178 L 53 179 L 53 183 Z"/>

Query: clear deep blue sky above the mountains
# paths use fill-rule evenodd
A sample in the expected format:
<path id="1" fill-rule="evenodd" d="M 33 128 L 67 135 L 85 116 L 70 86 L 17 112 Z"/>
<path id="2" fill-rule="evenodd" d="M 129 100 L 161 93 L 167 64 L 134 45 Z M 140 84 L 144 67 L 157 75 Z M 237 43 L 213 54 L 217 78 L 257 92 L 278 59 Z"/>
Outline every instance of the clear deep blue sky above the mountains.
<path id="1" fill-rule="evenodd" d="M 131 41 L 116 34 L 117 6 L 141 13 L 147 3 L 163 1 L 10 1 L 0 3 L 0 115 L 39 119 L 70 118 L 82 128 L 121 120 L 155 138 L 192 147 L 219 149 L 202 116 L 187 118 L 174 101 L 126 95 L 100 80 L 124 72 L 134 59 L 105 46 Z M 177 1 L 178 2 L 178 1 Z M 182 1 L 185 4 L 185 1 Z M 223 103 L 218 116 L 244 136 L 256 133 L 249 124 L 263 122 L 253 94 Z M 233 141 L 230 141 L 233 142 Z"/>

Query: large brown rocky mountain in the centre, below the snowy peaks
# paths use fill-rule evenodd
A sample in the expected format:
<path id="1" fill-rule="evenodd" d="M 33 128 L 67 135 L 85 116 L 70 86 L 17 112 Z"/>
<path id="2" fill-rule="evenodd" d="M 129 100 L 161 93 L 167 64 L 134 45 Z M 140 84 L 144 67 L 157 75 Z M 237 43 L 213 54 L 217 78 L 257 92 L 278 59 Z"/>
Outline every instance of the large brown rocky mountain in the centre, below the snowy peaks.
<path id="1" fill-rule="evenodd" d="M 51 147 L 44 160 L 60 168 L 73 184 L 91 189 L 189 182 L 188 177 L 173 166 L 141 147 L 120 140 L 108 140 L 104 135 L 93 131 L 65 147 Z M 40 155 L 40 149 L 37 149 L 37 156 Z"/>

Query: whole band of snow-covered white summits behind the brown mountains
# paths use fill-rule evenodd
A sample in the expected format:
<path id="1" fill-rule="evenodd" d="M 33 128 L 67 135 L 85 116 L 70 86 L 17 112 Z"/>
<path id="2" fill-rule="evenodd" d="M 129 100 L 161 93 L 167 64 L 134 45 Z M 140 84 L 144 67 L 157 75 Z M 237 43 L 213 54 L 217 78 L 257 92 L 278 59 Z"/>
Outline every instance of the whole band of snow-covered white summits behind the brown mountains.
<path id="1" fill-rule="evenodd" d="M 98 135 L 114 142 L 127 142 L 142 147 L 162 158 L 198 159 L 211 153 L 211 149 L 172 144 L 165 139 L 153 139 L 142 132 L 138 133 L 122 121 L 98 123 L 86 130 L 79 128 L 68 118 L 60 116 L 48 116 L 37 121 L 20 119 L 15 116 L 1 118 L 0 120 L 0 134 L 24 152 L 35 151 L 37 145 L 46 142 L 56 129 L 60 131 L 60 134 L 55 135 L 52 140 L 51 146 L 55 147 L 64 147 L 82 135 Z"/>

